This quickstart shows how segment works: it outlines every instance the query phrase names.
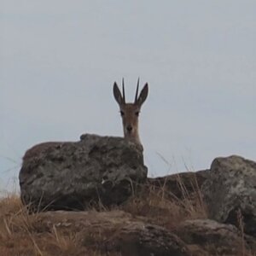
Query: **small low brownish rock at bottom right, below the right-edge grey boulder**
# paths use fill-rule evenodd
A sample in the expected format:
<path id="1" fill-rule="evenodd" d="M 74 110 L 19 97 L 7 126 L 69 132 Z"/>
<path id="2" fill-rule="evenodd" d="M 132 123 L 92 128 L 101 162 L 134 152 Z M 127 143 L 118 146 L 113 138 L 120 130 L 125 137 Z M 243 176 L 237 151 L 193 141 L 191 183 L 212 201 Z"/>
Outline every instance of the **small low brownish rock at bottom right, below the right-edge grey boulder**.
<path id="1" fill-rule="evenodd" d="M 242 252 L 256 250 L 253 237 L 244 236 L 234 225 L 211 219 L 186 220 L 177 227 L 176 234 L 189 248 L 201 247 L 204 255 L 245 255 Z"/>

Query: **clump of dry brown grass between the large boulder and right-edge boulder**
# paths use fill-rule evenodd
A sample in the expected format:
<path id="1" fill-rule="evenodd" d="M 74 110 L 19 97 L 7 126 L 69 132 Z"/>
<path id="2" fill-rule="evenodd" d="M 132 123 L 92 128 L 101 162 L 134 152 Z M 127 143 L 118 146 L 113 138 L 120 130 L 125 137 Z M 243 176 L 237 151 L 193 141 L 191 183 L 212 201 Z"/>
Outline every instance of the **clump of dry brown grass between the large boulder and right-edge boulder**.
<path id="1" fill-rule="evenodd" d="M 189 193 L 181 179 L 177 180 L 181 198 L 166 188 L 166 182 L 155 186 L 148 183 L 143 191 L 120 207 L 135 216 L 148 218 L 152 224 L 159 224 L 172 230 L 186 219 L 207 218 L 207 210 L 202 201 L 201 191 L 195 182 L 194 191 Z"/>

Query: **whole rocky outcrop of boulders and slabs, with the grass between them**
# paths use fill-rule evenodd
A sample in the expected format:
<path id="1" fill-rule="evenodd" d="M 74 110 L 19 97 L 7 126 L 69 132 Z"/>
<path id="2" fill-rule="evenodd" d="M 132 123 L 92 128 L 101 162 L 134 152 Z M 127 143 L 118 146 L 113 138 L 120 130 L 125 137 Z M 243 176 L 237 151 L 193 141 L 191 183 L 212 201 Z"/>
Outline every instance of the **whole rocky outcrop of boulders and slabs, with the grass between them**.
<path id="1" fill-rule="evenodd" d="M 119 137 L 84 135 L 79 142 L 28 150 L 20 191 L 34 211 L 121 204 L 103 212 L 37 214 L 36 230 L 55 236 L 73 230 L 76 247 L 87 254 L 88 249 L 125 256 L 256 251 L 256 163 L 239 156 L 217 158 L 210 170 L 147 178 L 142 148 Z"/>

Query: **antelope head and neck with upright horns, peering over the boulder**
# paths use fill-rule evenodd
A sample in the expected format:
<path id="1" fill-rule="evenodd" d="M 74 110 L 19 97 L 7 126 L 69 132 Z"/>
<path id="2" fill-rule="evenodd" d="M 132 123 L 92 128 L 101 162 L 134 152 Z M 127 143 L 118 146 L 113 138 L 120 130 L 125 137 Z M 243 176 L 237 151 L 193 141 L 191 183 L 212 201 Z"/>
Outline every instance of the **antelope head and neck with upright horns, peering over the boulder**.
<path id="1" fill-rule="evenodd" d="M 123 95 L 121 94 L 118 84 L 113 84 L 113 96 L 119 104 L 120 114 L 123 122 L 124 137 L 128 141 L 142 145 L 138 132 L 138 116 L 141 111 L 143 102 L 148 96 L 148 83 L 146 83 L 138 96 L 139 79 L 137 79 L 137 90 L 133 103 L 125 102 L 125 83 L 122 80 Z"/>

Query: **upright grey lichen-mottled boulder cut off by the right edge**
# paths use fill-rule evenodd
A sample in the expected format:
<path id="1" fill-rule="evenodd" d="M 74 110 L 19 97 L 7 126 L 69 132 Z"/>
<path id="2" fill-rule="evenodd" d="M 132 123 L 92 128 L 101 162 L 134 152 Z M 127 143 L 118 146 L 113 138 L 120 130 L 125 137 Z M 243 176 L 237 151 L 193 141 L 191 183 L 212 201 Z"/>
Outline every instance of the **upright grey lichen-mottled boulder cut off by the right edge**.
<path id="1" fill-rule="evenodd" d="M 209 218 L 256 236 L 256 163 L 240 156 L 217 158 L 201 189 Z"/>

